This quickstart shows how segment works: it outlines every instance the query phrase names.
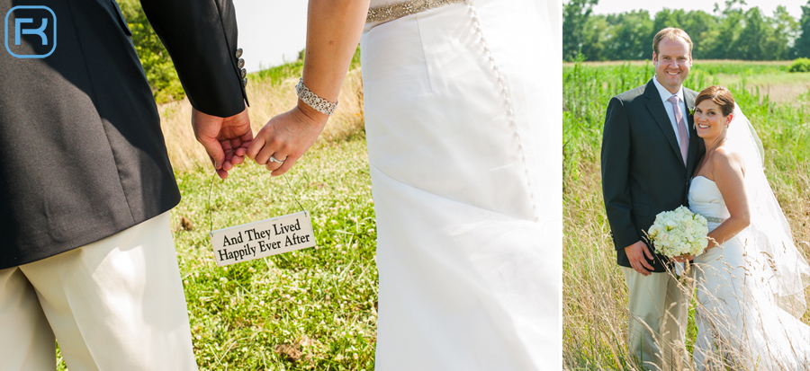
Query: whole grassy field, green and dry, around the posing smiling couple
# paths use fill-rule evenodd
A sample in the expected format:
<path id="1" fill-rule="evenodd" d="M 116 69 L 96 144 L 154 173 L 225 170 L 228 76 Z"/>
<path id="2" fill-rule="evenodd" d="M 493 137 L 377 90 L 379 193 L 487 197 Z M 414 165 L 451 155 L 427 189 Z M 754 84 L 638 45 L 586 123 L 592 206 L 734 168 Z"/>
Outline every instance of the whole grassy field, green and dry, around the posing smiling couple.
<path id="1" fill-rule="evenodd" d="M 599 149 L 609 99 L 646 84 L 649 62 L 563 66 L 563 362 L 567 369 L 638 369 L 626 347 L 627 292 L 601 195 Z M 685 86 L 725 84 L 759 131 L 766 173 L 810 257 L 810 74 L 784 63 L 696 62 Z M 804 87 L 801 87 L 802 84 Z M 694 303 L 693 303 L 694 305 Z M 803 319 L 810 322 L 807 315 Z M 690 318 L 687 347 L 696 335 Z"/>

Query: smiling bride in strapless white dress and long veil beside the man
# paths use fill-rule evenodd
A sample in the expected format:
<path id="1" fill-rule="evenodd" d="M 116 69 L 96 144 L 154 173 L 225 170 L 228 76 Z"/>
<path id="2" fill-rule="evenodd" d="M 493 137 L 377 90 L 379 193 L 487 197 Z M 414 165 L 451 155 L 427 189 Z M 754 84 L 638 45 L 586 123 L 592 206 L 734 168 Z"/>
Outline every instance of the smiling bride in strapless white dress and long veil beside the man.
<path id="1" fill-rule="evenodd" d="M 695 103 L 707 153 L 689 208 L 707 217 L 710 240 L 694 259 L 694 362 L 700 370 L 810 369 L 810 327 L 799 320 L 810 267 L 765 178 L 759 137 L 724 87 L 708 87 Z"/>

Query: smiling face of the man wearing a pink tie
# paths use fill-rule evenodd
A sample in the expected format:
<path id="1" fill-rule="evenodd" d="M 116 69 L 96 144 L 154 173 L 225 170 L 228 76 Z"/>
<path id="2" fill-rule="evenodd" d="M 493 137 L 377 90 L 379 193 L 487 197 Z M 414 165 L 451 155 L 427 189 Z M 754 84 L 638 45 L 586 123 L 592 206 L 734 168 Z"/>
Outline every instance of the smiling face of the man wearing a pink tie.
<path id="1" fill-rule="evenodd" d="M 681 39 L 661 40 L 658 43 L 658 51 L 658 55 L 653 52 L 655 78 L 670 93 L 678 93 L 692 66 L 689 44 Z"/>

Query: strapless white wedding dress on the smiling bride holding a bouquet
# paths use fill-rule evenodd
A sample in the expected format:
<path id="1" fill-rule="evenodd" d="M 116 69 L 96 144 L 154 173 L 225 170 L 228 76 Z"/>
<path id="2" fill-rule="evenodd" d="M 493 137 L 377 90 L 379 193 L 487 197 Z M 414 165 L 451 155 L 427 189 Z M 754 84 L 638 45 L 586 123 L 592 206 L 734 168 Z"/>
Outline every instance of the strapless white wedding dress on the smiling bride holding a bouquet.
<path id="1" fill-rule="evenodd" d="M 716 183 L 704 176 L 691 182 L 689 209 L 707 216 L 709 231 L 729 217 Z M 767 268 L 774 264 L 756 241 L 749 227 L 694 260 L 700 370 L 810 369 L 810 327 L 779 306 Z"/>

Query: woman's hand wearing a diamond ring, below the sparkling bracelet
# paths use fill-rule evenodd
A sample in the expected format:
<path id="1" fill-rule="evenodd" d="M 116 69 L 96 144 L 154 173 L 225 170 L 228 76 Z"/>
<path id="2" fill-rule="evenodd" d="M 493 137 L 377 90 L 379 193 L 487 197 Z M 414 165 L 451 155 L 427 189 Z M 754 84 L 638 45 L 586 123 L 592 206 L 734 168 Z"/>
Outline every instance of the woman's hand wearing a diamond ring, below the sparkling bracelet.
<path id="1" fill-rule="evenodd" d="M 265 165 L 271 175 L 281 175 L 315 144 L 327 119 L 329 116 L 299 101 L 293 110 L 267 121 L 247 146 L 247 157 Z M 277 161 L 271 161 L 271 157 Z"/>

